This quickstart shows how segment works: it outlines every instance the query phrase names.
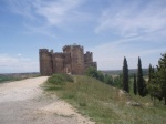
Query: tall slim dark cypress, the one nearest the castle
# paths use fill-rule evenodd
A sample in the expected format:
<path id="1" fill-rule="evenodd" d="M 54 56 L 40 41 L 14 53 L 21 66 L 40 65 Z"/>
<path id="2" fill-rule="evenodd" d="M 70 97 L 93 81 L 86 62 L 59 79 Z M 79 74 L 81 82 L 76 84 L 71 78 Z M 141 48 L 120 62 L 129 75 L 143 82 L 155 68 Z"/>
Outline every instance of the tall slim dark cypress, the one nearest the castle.
<path id="1" fill-rule="evenodd" d="M 123 90 L 126 91 L 127 93 L 129 92 L 128 89 L 128 65 L 126 58 L 124 56 L 123 61 Z"/>

